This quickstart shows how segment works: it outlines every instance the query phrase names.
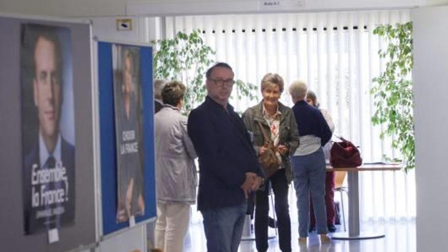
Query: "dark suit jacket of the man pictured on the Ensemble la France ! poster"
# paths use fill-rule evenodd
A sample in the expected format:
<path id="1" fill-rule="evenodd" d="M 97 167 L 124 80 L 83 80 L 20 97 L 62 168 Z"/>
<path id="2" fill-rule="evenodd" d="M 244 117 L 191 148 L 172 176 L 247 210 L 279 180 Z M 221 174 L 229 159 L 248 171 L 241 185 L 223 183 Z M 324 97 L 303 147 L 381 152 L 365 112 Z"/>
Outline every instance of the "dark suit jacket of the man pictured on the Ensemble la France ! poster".
<path id="1" fill-rule="evenodd" d="M 63 165 L 66 167 L 67 179 L 68 179 L 68 201 L 61 204 L 64 207 L 64 213 L 60 218 L 61 226 L 72 225 L 75 216 L 75 147 L 69 144 L 61 136 L 61 159 Z M 32 166 L 33 164 L 39 165 L 39 142 L 34 145 L 34 148 L 26 155 L 23 166 L 23 207 L 24 207 L 24 229 L 25 234 L 32 234 L 35 232 L 43 231 L 47 229 L 45 224 L 46 218 L 36 218 L 37 211 L 44 210 L 45 206 L 32 207 Z M 35 190 L 39 189 L 40 185 L 35 186 Z M 51 204 L 50 207 L 54 208 L 57 204 Z M 50 221 L 54 221 L 54 217 L 50 218 Z"/>

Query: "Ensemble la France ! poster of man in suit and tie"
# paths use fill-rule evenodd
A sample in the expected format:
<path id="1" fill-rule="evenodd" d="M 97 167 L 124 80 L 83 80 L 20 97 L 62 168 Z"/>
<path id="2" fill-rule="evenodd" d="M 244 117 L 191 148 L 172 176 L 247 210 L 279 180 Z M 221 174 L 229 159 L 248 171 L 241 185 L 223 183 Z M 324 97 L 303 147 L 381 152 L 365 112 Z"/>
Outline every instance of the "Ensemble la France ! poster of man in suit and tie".
<path id="1" fill-rule="evenodd" d="M 20 39 L 24 232 L 34 234 L 74 222 L 71 32 L 23 23 Z"/>

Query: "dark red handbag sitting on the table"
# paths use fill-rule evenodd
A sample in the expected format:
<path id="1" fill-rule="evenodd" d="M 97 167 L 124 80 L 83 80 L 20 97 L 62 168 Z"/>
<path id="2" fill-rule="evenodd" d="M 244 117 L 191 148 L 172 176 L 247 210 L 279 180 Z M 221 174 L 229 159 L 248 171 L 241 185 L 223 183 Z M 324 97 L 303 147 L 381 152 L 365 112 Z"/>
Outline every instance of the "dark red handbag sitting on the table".
<path id="1" fill-rule="evenodd" d="M 330 150 L 330 164 L 337 167 L 356 167 L 362 164 L 358 148 L 352 142 L 339 137 L 342 142 L 334 142 Z"/>

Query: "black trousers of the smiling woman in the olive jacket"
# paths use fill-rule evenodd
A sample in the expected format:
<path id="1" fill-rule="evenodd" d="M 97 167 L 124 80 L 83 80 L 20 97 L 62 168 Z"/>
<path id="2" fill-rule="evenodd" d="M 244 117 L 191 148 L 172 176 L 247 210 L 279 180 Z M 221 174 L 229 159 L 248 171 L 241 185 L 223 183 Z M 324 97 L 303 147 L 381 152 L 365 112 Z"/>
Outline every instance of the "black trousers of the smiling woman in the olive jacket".
<path id="1" fill-rule="evenodd" d="M 291 251 L 291 219 L 288 205 L 288 181 L 285 169 L 278 170 L 265 182 L 264 190 L 255 193 L 255 240 L 257 250 L 264 252 L 268 249 L 268 219 L 269 219 L 269 184 L 275 195 L 275 214 L 278 224 L 278 243 L 283 252 Z"/>

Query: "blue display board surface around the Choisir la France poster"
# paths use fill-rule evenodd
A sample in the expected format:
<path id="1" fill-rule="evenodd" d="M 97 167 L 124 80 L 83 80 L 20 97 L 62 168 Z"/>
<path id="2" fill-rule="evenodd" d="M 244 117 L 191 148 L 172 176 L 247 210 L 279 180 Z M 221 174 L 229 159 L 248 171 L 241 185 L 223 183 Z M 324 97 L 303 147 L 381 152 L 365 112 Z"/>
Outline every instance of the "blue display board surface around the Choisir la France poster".
<path id="1" fill-rule="evenodd" d="M 118 218 L 118 193 L 119 179 L 117 157 L 120 148 L 117 148 L 117 128 L 119 127 L 116 108 L 119 101 L 114 92 L 120 89 L 114 87 L 114 78 L 117 77 L 114 70 L 116 55 L 114 48 L 131 48 L 138 53 L 139 68 L 137 79 L 140 83 L 140 102 L 138 117 L 141 120 L 141 167 L 143 170 L 143 199 L 144 212 L 139 211 L 135 215 L 135 223 L 146 223 L 146 220 L 156 216 L 155 196 L 155 162 L 154 162 L 154 97 L 152 83 L 152 48 L 150 46 L 118 44 L 111 42 L 98 42 L 98 89 L 99 89 L 99 121 L 100 121 L 100 149 L 101 149 L 101 208 L 102 208 L 102 234 L 117 232 L 128 228 L 132 222 Z M 125 57 L 125 56 L 123 56 Z M 125 60 L 123 60 L 124 62 Z M 123 90 L 126 89 L 123 86 Z"/>

